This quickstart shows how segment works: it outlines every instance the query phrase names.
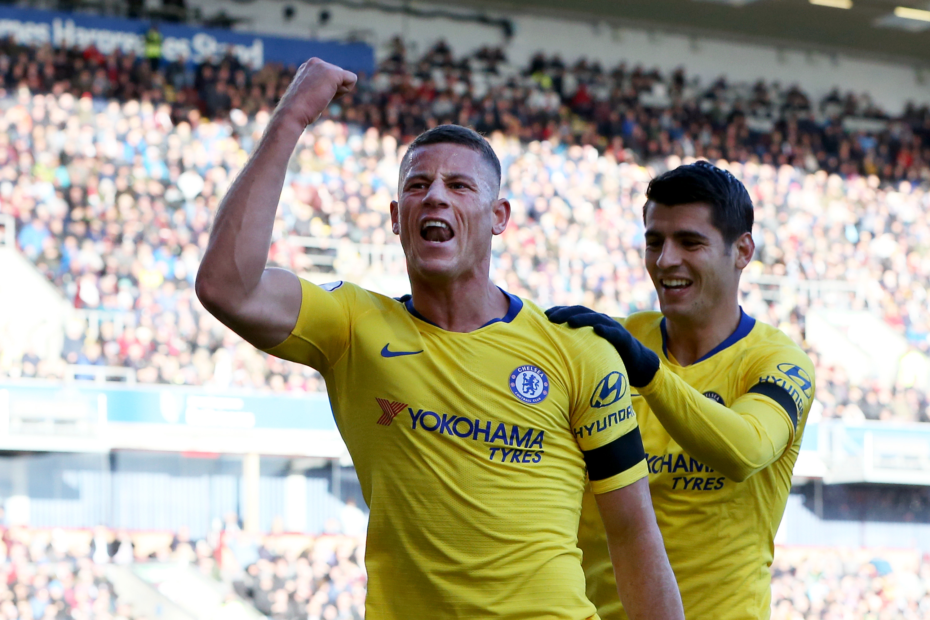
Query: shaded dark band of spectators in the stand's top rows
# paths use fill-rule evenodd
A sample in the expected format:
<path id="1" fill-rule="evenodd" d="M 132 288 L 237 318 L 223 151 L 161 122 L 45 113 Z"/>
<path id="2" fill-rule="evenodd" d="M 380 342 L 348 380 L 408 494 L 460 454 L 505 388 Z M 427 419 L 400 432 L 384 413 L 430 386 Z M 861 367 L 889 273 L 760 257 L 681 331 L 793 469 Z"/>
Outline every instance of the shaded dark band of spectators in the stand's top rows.
<path id="1" fill-rule="evenodd" d="M 169 104 L 174 119 L 191 112 L 210 118 L 233 110 L 270 111 L 294 67 L 253 70 L 232 54 L 193 68 L 184 59 L 153 65 L 132 54 L 0 43 L 0 86 L 94 99 Z M 464 58 L 439 41 L 412 59 L 397 38 L 379 70 L 334 106 L 335 120 L 372 126 L 408 142 L 442 123 L 502 131 L 524 141 L 591 144 L 618 160 L 648 161 L 677 154 L 711 161 L 756 161 L 808 171 L 876 175 L 888 180 L 930 178 L 930 110 L 908 106 L 897 118 L 868 94 L 834 90 L 819 101 L 796 86 L 701 85 L 684 71 L 597 61 L 565 63 L 538 54 L 513 67 L 500 49 Z"/>

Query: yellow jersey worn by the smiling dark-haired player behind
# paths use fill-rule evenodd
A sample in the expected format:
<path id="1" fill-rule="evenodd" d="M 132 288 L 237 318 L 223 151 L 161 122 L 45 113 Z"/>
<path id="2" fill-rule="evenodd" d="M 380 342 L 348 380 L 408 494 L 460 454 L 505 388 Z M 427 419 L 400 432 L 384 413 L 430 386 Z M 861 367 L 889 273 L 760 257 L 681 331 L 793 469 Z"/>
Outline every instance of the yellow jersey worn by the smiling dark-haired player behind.
<path id="1" fill-rule="evenodd" d="M 656 351 L 675 375 L 704 396 L 731 406 L 749 392 L 771 394 L 785 408 L 786 423 L 795 428 L 787 450 L 772 465 L 737 482 L 687 455 L 658 422 L 645 399 L 633 394 L 648 460 L 653 508 L 681 587 L 684 617 L 768 618 L 769 566 L 778 523 L 788 501 L 791 470 L 814 396 L 813 364 L 788 336 L 746 314 L 732 336 L 688 366 L 669 357 L 664 319 L 659 312 L 637 312 L 618 321 Z M 781 389 L 781 395 L 773 387 Z M 604 620 L 625 620 L 627 615 L 618 600 L 607 556 L 604 525 L 589 495 L 584 498 L 578 531 L 588 596 Z"/>

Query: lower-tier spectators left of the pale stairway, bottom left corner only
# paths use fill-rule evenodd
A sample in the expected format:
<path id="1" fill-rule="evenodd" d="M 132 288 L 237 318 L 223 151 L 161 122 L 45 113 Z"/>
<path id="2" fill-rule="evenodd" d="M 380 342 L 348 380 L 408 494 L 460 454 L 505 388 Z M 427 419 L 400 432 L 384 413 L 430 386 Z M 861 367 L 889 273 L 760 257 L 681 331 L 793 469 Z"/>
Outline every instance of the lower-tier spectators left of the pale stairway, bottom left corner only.
<path id="1" fill-rule="evenodd" d="M 23 528 L 0 539 L 3 620 L 143 620 L 113 592 L 94 561 L 89 536 L 78 539 Z M 83 544 L 81 544 L 83 542 Z"/>

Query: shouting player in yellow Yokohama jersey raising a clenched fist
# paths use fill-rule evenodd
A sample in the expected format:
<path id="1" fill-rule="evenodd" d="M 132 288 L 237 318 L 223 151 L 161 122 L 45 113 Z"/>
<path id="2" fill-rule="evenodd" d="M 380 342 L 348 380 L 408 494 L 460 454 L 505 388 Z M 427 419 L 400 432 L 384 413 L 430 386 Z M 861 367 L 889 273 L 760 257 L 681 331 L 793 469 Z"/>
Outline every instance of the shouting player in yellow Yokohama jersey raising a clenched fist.
<path id="1" fill-rule="evenodd" d="M 405 152 L 391 225 L 410 296 L 266 268 L 294 146 L 354 83 L 301 65 L 219 206 L 196 291 L 247 341 L 326 378 L 371 510 L 365 617 L 597 617 L 576 544 L 587 472 L 631 613 L 681 620 L 623 363 L 490 280 L 510 203 L 484 138 L 440 125 Z"/>

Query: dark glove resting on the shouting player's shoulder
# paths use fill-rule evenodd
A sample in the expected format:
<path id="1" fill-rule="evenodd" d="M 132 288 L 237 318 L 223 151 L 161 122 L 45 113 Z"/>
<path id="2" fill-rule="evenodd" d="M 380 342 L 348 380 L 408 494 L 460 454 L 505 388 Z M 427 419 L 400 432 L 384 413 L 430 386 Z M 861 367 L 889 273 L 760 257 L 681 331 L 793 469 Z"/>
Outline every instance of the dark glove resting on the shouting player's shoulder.
<path id="1" fill-rule="evenodd" d="M 552 323 L 567 323 L 569 327 L 593 327 L 594 333 L 614 345 L 620 354 L 632 387 L 648 385 L 658 373 L 658 355 L 606 314 L 584 306 L 556 306 L 546 310 L 546 316 Z"/>

